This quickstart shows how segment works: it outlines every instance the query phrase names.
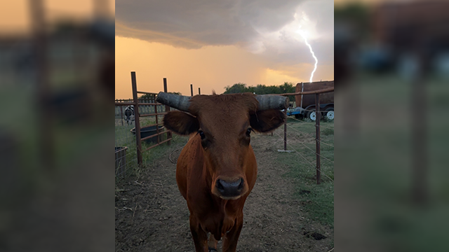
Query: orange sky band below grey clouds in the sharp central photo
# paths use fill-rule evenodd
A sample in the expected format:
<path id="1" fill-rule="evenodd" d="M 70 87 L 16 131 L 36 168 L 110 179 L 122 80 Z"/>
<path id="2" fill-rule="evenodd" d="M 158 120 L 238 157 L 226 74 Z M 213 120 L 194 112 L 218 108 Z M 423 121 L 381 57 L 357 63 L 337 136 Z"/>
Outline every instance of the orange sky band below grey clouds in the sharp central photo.
<path id="1" fill-rule="evenodd" d="M 234 45 L 206 46 L 201 49 L 174 48 L 135 38 L 116 36 L 116 99 L 132 97 L 130 71 L 136 72 L 138 90 L 159 92 L 167 78 L 169 92 L 190 95 L 201 87 L 201 94 L 225 92 L 234 83 L 281 85 L 307 82 L 312 64 L 293 66 L 283 71 L 267 69 L 259 55 Z M 309 56 L 309 55 L 307 55 Z M 314 79 L 333 80 L 333 66 L 320 66 Z"/>

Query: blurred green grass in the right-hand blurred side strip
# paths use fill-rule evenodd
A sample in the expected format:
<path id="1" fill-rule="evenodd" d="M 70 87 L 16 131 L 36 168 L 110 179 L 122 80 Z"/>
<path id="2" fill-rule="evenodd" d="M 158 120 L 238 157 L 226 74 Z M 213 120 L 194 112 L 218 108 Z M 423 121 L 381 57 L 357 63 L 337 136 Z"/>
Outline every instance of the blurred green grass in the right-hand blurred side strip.
<path id="1" fill-rule="evenodd" d="M 357 215 L 363 216 L 358 218 L 366 223 L 363 231 L 369 235 L 363 239 L 375 239 L 386 251 L 449 251 L 443 238 L 449 223 L 443 214 L 449 209 L 449 119 L 443 116 L 449 105 L 448 81 L 433 77 L 422 81 L 428 102 L 424 114 L 412 109 L 416 100 L 409 80 L 365 75 L 354 83 L 359 83 L 362 124 L 357 141 L 339 150 L 339 174 L 354 176 L 339 190 L 346 192 L 348 202 L 358 203 Z M 415 117 L 427 123 L 422 155 L 413 153 Z M 413 201 L 413 164 L 425 155 L 429 202 L 417 204 Z"/>

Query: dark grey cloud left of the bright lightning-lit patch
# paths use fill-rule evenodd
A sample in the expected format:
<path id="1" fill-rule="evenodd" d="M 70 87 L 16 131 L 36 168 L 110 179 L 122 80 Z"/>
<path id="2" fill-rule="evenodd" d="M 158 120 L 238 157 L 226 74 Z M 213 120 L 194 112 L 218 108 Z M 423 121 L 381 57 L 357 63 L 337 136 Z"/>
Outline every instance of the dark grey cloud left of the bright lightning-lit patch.
<path id="1" fill-rule="evenodd" d="M 246 43 L 293 20 L 300 1 L 117 0 L 117 35 L 187 48 Z M 152 31 L 152 32 L 148 32 Z M 165 36 L 164 36 L 165 35 Z"/>

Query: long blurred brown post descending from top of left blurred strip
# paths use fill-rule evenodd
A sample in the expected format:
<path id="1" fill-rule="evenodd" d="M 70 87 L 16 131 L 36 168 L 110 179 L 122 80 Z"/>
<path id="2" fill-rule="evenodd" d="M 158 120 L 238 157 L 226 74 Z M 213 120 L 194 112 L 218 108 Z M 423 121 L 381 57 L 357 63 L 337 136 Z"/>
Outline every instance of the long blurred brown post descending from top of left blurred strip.
<path id="1" fill-rule="evenodd" d="M 31 8 L 32 34 L 34 37 L 34 53 L 36 55 L 36 87 L 37 87 L 37 108 L 39 109 L 39 143 L 41 146 L 39 153 L 41 165 L 47 170 L 53 170 L 53 135 L 51 125 L 53 115 L 49 106 L 49 64 L 48 46 L 45 29 L 45 10 L 43 0 L 29 0 Z"/>

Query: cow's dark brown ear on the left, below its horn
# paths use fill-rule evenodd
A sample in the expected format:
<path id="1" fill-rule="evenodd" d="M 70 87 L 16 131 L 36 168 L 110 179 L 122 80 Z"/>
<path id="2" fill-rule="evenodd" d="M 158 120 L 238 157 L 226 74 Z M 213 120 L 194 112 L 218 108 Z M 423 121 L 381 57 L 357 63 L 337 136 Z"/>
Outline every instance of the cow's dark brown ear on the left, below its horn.
<path id="1" fill-rule="evenodd" d="M 188 135 L 199 130 L 199 122 L 181 111 L 170 111 L 163 117 L 163 125 L 176 134 Z"/>

